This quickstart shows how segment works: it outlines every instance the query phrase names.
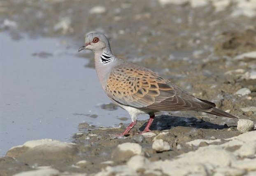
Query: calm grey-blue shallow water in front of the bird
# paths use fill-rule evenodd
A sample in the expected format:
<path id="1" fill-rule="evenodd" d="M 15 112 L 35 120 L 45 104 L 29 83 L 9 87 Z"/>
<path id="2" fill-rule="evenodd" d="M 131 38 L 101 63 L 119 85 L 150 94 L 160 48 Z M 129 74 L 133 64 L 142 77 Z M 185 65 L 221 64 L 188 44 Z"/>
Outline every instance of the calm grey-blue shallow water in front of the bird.
<path id="1" fill-rule="evenodd" d="M 121 117 L 130 122 L 121 108 L 101 109 L 111 101 L 95 70 L 84 67 L 88 61 L 75 56 L 79 47 L 67 46 L 67 39 L 12 40 L 0 32 L 0 41 L 0 156 L 32 139 L 70 141 L 82 122 L 113 126 Z"/>

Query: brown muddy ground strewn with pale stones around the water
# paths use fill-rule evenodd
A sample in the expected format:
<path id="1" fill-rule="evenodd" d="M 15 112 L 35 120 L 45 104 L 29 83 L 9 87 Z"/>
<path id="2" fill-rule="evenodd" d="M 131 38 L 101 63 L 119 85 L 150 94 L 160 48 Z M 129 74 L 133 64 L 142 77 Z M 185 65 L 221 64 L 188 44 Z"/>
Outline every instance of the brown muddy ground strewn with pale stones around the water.
<path id="1" fill-rule="evenodd" d="M 253 0 L 8 0 L 0 2 L 0 30 L 16 40 L 21 32 L 65 35 L 77 48 L 85 33 L 104 32 L 116 55 L 255 123 L 255 7 Z M 93 67 L 92 59 L 87 66 Z M 256 131 L 241 134 L 235 119 L 163 113 L 154 133 L 137 135 L 145 123 L 121 138 L 115 135 L 127 124 L 105 129 L 81 123 L 72 144 L 27 142 L 0 158 L 0 176 L 256 175 Z"/>

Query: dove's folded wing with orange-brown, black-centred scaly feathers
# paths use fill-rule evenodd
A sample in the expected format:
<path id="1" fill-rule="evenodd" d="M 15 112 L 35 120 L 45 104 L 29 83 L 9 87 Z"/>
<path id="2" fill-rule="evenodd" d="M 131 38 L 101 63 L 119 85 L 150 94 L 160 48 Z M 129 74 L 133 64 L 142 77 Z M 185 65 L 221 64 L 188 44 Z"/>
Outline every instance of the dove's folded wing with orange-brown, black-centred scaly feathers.
<path id="1" fill-rule="evenodd" d="M 207 110 L 215 106 L 195 98 L 149 69 L 130 64 L 112 69 L 106 92 L 118 103 L 147 110 Z"/>

